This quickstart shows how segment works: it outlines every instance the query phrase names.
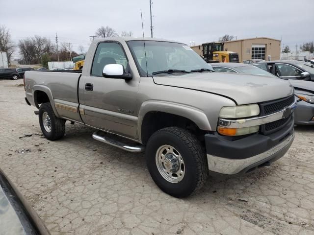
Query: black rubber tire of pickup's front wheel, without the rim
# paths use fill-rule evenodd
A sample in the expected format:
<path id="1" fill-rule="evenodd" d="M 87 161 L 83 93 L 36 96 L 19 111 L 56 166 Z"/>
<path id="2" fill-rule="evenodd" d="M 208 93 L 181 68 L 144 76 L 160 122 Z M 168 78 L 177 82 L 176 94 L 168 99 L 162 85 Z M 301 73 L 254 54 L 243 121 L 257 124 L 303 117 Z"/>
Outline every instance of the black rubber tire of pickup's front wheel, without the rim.
<path id="1" fill-rule="evenodd" d="M 157 150 L 162 145 L 173 146 L 182 156 L 185 173 L 178 183 L 171 183 L 159 173 L 156 163 Z M 167 127 L 155 132 L 146 146 L 148 170 L 164 192 L 174 197 L 187 197 L 203 187 L 208 177 L 208 165 L 205 152 L 190 132 L 179 127 Z"/>

